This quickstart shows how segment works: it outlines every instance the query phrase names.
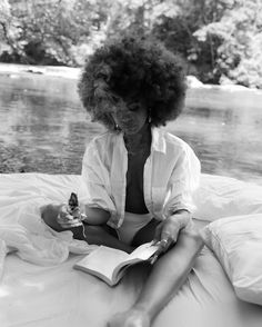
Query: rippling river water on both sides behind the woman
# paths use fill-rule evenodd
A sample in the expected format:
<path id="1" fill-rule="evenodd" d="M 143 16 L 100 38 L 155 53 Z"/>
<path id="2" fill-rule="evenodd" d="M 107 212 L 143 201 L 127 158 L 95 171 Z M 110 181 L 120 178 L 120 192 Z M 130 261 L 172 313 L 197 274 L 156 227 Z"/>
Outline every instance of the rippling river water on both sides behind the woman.
<path id="1" fill-rule="evenodd" d="M 262 106 L 195 102 L 167 129 L 193 147 L 203 172 L 262 185 Z M 85 145 L 103 128 L 81 108 L 75 80 L 23 73 L 0 76 L 0 131 L 1 172 L 80 174 Z"/>

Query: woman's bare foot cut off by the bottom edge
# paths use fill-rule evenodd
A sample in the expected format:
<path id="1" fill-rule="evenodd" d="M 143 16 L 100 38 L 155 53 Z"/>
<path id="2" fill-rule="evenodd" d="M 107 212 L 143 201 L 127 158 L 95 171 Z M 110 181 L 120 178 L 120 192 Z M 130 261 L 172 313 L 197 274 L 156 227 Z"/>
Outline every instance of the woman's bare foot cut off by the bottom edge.
<path id="1" fill-rule="evenodd" d="M 109 320 L 108 327 L 150 327 L 150 317 L 142 310 L 131 309 L 115 314 Z"/>

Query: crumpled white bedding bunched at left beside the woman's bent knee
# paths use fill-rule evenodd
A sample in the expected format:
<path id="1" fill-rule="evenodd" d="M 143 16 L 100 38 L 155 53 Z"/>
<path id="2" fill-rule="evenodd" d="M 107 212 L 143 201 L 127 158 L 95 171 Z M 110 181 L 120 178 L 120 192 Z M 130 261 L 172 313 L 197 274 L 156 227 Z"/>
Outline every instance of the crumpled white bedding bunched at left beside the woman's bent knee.
<path id="1" fill-rule="evenodd" d="M 16 178 L 17 177 L 17 178 Z M 53 186 L 52 176 L 1 176 L 0 191 L 0 271 L 4 257 L 14 252 L 37 265 L 56 265 L 67 260 L 69 252 L 88 254 L 94 246 L 74 240 L 71 231 L 56 232 L 41 220 L 40 208 L 50 201 L 66 201 L 67 181 Z M 79 178 L 79 177 L 77 177 Z M 73 177 L 78 187 L 81 184 Z M 75 187 L 74 187 L 75 189 Z M 56 194 L 59 191 L 59 194 Z M 77 188 L 77 191 L 79 188 Z M 52 200 L 53 198 L 53 200 Z M 1 277 L 1 275 L 0 275 Z"/>

